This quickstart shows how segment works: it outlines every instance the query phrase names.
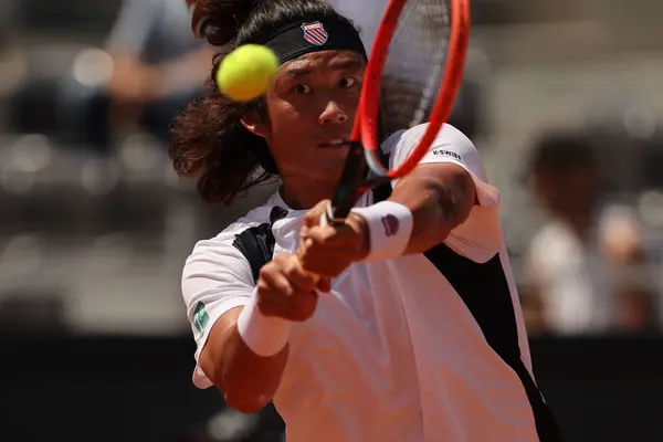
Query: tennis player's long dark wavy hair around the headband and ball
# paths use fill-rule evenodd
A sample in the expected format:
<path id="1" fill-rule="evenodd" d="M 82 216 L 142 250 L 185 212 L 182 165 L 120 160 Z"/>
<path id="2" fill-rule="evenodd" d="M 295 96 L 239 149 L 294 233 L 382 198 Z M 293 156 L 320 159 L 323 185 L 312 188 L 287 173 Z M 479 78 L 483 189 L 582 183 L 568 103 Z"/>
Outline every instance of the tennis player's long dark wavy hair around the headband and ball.
<path id="1" fill-rule="evenodd" d="M 198 192 L 204 201 L 231 204 L 239 193 L 277 180 L 278 169 L 265 140 L 241 124 L 252 106 L 264 110 L 261 104 L 234 103 L 217 90 L 212 78 L 221 61 L 235 48 L 256 43 L 292 21 L 346 19 L 322 0 L 188 0 L 188 3 L 193 8 L 193 29 L 202 29 L 201 36 L 220 46 L 220 51 L 207 83 L 210 94 L 191 103 L 175 119 L 170 156 L 180 176 L 198 179 Z M 265 114 L 261 112 L 263 118 Z"/>

